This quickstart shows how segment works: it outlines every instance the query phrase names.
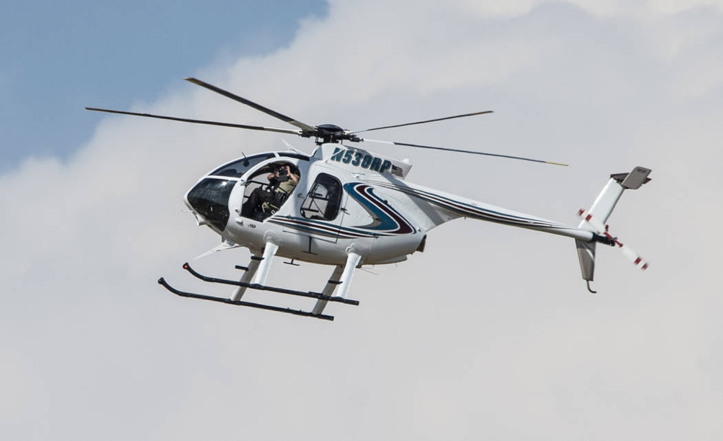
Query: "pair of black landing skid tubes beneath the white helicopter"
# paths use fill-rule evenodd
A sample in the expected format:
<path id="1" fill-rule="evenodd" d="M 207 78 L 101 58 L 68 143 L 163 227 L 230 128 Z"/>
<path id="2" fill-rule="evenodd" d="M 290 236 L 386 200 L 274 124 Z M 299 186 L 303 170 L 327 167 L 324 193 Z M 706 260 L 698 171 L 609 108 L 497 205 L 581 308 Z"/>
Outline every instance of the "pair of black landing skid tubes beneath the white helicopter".
<path id="1" fill-rule="evenodd" d="M 261 285 L 260 283 L 247 283 L 247 282 L 243 282 L 243 281 L 231 281 L 231 280 L 226 280 L 226 279 L 222 279 L 222 278 L 208 277 L 206 275 L 202 275 L 202 274 L 198 273 L 197 271 L 195 271 L 188 263 L 184 263 L 183 268 L 184 268 L 184 270 L 187 270 L 189 273 L 191 273 L 194 277 L 199 278 L 200 280 L 209 282 L 209 283 L 221 283 L 223 285 L 241 286 L 242 288 L 256 289 L 258 291 L 270 291 L 270 292 L 274 292 L 274 293 L 278 293 L 278 294 L 289 294 L 291 296 L 309 297 L 309 298 L 317 299 L 318 301 L 324 301 L 324 302 L 338 301 L 340 303 L 352 304 L 355 306 L 359 305 L 358 300 L 345 299 L 344 297 L 340 297 L 340 296 L 327 296 L 325 294 L 317 293 L 314 291 L 296 291 L 293 289 L 265 286 L 265 285 Z M 246 269 L 244 267 L 238 267 L 238 268 L 244 269 L 244 270 Z M 232 305 L 239 306 L 239 307 L 267 309 L 268 311 L 284 312 L 286 314 L 301 315 L 304 317 L 314 317 L 314 318 L 321 319 L 321 320 L 334 320 L 334 317 L 332 315 L 320 314 L 317 312 L 302 311 L 300 309 L 275 307 L 273 305 L 254 303 L 251 301 L 226 299 L 224 297 L 215 297 L 215 296 L 208 296 L 205 294 L 194 294 L 194 293 L 189 293 L 189 292 L 185 292 L 185 291 L 179 291 L 176 288 L 174 288 L 173 286 L 169 285 L 168 282 L 166 282 L 166 280 L 164 278 L 159 278 L 158 283 L 163 285 L 163 287 L 168 289 L 168 291 L 171 291 L 173 294 L 176 294 L 176 296 L 189 297 L 191 299 L 218 301 L 220 303 L 232 304 Z"/>

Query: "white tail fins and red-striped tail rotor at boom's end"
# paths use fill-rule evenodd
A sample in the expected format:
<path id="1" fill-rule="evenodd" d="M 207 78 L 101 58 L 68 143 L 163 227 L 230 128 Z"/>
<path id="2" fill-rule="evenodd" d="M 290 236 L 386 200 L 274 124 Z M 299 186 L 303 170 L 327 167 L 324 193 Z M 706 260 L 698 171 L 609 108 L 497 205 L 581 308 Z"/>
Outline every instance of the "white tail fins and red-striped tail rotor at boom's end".
<path id="1" fill-rule="evenodd" d="M 605 224 L 612 213 L 612 210 L 620 200 L 620 196 L 626 189 L 638 189 L 641 185 L 650 181 L 648 175 L 651 170 L 649 168 L 636 167 L 630 173 L 612 174 L 610 179 L 598 194 L 593 202 L 590 210 L 578 210 L 578 215 L 583 219 L 578 228 L 591 228 L 599 235 L 609 239 L 609 244 L 613 247 L 617 246 L 623 252 L 623 255 L 633 262 L 641 270 L 648 267 L 648 262 L 643 260 L 639 254 L 630 249 L 630 247 L 619 241 L 617 237 L 609 234 L 608 226 Z M 583 280 L 587 282 L 588 291 L 596 293 L 590 288 L 590 282 L 593 281 L 595 272 L 595 241 L 585 242 L 576 239 L 576 247 L 578 250 L 578 259 L 580 260 L 580 270 Z"/>

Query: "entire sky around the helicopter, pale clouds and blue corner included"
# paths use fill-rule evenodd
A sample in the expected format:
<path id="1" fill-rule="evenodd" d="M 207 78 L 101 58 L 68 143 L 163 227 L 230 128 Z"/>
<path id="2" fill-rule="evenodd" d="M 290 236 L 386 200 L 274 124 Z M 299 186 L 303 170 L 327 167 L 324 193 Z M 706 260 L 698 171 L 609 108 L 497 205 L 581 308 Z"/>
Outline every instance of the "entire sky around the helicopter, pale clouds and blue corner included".
<path id="1" fill-rule="evenodd" d="M 2 439 L 723 437 L 721 2 L 207 4 L 1 6 Z M 609 174 L 651 168 L 609 219 L 650 267 L 599 247 L 592 295 L 570 239 L 459 219 L 357 271 L 334 322 L 177 298 L 159 276 L 226 295 L 181 269 L 219 241 L 184 192 L 241 152 L 314 147 L 81 110 L 280 127 L 189 76 L 350 129 L 493 110 L 375 139 L 570 166 L 367 148 L 570 224 Z M 248 260 L 192 262 L 234 278 Z M 332 270 L 280 262 L 272 285 Z"/>

